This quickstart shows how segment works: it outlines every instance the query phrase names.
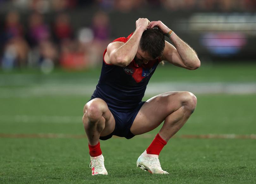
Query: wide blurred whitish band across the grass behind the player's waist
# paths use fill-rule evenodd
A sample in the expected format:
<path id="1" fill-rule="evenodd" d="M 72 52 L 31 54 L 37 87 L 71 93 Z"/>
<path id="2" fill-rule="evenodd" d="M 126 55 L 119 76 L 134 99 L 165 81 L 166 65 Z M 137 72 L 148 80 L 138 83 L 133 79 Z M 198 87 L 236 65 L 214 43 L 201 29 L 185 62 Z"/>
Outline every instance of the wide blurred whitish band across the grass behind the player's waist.
<path id="1" fill-rule="evenodd" d="M 42 97 L 42 96 L 69 96 L 92 95 L 96 84 L 56 84 L 26 86 L 18 88 L 2 88 L 0 98 L 11 97 Z M 209 83 L 192 83 L 192 82 L 151 82 L 147 86 L 145 95 L 152 96 L 169 91 L 189 91 L 195 94 L 255 94 L 256 83 L 226 83 L 226 82 L 209 82 Z"/>

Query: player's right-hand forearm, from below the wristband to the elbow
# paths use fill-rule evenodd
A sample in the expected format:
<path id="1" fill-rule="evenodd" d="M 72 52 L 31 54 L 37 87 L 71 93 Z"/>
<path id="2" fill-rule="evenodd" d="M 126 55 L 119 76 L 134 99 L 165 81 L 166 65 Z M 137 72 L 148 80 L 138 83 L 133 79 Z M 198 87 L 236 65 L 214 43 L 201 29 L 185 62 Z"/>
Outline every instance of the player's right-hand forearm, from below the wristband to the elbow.
<path id="1" fill-rule="evenodd" d="M 182 61 L 186 66 L 191 68 L 194 68 L 198 65 L 200 66 L 197 53 L 188 44 L 186 44 L 186 42 L 180 39 L 175 33 L 169 36 L 169 39 L 173 42 Z"/>

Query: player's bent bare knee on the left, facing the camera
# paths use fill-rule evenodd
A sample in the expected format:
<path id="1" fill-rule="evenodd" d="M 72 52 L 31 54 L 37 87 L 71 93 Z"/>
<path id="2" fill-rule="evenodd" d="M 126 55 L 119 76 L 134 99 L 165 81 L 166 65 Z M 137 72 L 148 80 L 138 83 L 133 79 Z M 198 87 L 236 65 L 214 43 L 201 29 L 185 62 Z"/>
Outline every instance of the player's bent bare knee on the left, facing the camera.
<path id="1" fill-rule="evenodd" d="M 101 119 L 102 114 L 106 112 L 106 110 L 106 102 L 104 102 L 100 98 L 95 98 L 85 104 L 83 120 L 84 118 L 88 118 L 90 122 L 98 122 Z"/>

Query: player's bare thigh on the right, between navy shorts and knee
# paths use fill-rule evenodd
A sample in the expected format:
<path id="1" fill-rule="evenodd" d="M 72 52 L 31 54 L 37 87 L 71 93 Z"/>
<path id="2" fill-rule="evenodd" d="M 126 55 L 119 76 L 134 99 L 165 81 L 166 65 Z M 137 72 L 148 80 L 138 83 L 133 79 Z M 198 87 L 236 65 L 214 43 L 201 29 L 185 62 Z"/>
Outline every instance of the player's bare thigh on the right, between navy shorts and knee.
<path id="1" fill-rule="evenodd" d="M 158 127 L 168 115 L 182 106 L 182 93 L 166 92 L 147 100 L 131 126 L 131 133 L 144 134 Z"/>

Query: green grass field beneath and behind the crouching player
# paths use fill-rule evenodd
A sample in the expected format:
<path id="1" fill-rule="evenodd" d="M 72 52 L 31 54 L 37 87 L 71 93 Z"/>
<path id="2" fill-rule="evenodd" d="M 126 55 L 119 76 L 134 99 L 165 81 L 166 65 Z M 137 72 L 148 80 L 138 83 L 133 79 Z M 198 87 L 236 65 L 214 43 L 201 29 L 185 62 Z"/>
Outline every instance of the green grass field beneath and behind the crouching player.
<path id="1" fill-rule="evenodd" d="M 256 183 L 254 93 L 195 94 L 197 109 L 160 153 L 162 168 L 170 175 L 151 175 L 136 167 L 159 127 L 129 140 L 101 141 L 109 175 L 91 176 L 81 120 L 90 95 L 16 94 L 31 86 L 94 84 L 98 71 L 0 73 L 0 183 Z M 172 68 L 171 73 L 161 68 L 152 80 L 167 81 L 168 74 L 177 82 L 256 82 L 255 65 L 188 72 Z M 193 137 L 211 134 L 216 137 Z"/>

